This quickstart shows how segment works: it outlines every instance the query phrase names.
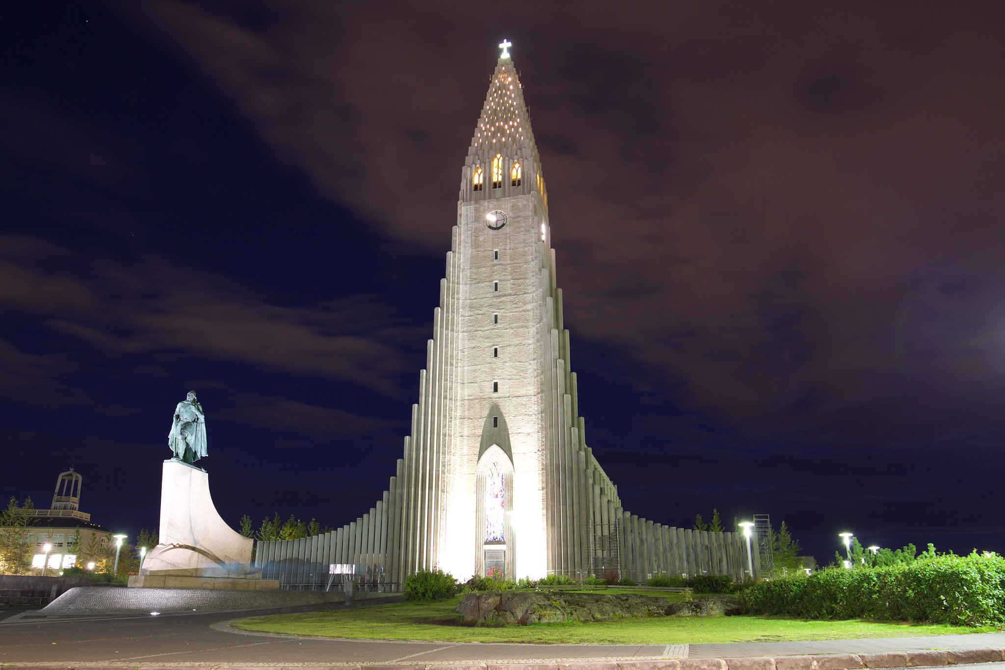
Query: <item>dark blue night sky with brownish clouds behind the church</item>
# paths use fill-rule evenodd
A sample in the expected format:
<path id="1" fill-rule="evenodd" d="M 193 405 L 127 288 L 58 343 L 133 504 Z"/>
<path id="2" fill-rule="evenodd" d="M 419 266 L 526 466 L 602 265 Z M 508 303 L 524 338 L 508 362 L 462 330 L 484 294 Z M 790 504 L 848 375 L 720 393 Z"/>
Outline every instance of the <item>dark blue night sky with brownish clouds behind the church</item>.
<path id="1" fill-rule="evenodd" d="M 3 501 L 369 510 L 504 37 L 625 507 L 1005 550 L 1000 2 L 4 2 Z"/>

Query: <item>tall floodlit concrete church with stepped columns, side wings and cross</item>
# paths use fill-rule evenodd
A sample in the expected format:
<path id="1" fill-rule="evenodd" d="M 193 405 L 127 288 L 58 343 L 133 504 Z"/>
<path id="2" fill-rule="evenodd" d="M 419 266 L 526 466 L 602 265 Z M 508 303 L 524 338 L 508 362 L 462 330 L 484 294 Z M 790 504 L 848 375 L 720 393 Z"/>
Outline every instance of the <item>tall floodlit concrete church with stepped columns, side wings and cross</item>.
<path id="1" fill-rule="evenodd" d="M 740 580 L 757 572 L 741 535 L 632 515 L 587 446 L 548 191 L 512 45 L 500 46 L 461 169 L 433 338 L 397 471 L 355 522 L 259 542 L 255 565 L 266 579 L 305 588 L 332 564 L 388 585 L 434 569 L 459 579 Z"/>

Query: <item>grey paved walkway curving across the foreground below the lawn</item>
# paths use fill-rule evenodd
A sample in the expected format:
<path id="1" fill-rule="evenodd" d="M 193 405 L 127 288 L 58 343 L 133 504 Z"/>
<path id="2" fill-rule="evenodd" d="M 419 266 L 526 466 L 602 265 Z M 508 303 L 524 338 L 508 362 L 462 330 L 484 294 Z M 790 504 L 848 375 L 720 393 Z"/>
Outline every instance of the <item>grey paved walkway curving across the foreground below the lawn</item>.
<path id="1" fill-rule="evenodd" d="M 634 670 L 659 668 L 670 670 L 672 667 L 683 670 L 685 666 L 694 665 L 694 670 L 703 670 L 705 664 L 698 663 L 697 659 L 749 657 L 754 661 L 753 657 L 786 656 L 792 657 L 791 660 L 795 662 L 798 656 L 816 654 L 882 654 L 925 650 L 952 650 L 965 654 L 966 650 L 1005 648 L 1005 633 L 878 640 L 696 645 L 451 644 L 333 640 L 238 632 L 230 628 L 228 622 L 243 618 L 247 613 L 234 612 L 160 617 L 93 617 L 55 621 L 26 620 L 17 617 L 16 611 L 2 613 L 0 617 L 4 614 L 8 616 L 0 620 L 0 665 L 33 667 L 128 665 L 133 668 L 197 668 L 340 664 L 356 666 L 465 663 L 480 665 L 519 662 L 554 664 L 601 661 L 589 665 L 596 670 L 615 670 L 612 661 L 648 661 L 631 667 Z M 677 664 L 671 663 L 669 659 L 692 660 Z M 968 660 L 965 656 L 959 656 L 956 662 L 965 663 Z M 997 660 L 1003 659 L 999 656 Z M 938 663 L 931 663 L 931 665 L 936 664 Z M 736 664 L 730 663 L 730 669 L 734 665 Z M 782 665 L 779 662 L 776 667 L 774 662 L 771 663 L 771 667 L 775 670 L 782 670 Z M 831 665 L 849 667 L 847 663 L 837 662 L 836 657 Z M 903 665 L 903 663 L 891 662 L 889 665 Z M 625 664 L 622 663 L 618 667 L 621 666 Z M 823 662 L 810 663 L 805 670 L 828 670 L 828 667 Z M 990 669 L 991 665 L 984 664 L 979 667 Z M 708 666 L 708 670 L 717 669 L 727 670 L 727 666 L 725 663 L 718 665 L 712 663 Z M 491 670 L 490 665 L 488 670 Z M 577 670 L 577 668 L 565 670 Z M 587 668 L 584 666 L 578 670 Z"/>

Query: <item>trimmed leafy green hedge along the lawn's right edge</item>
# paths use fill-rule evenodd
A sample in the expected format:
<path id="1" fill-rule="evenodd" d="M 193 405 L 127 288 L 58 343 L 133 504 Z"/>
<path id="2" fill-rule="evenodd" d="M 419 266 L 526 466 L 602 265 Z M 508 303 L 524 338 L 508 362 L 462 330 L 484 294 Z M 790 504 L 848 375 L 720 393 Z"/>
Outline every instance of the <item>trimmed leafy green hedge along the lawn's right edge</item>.
<path id="1" fill-rule="evenodd" d="M 1005 559 L 952 554 L 883 568 L 839 568 L 808 578 L 759 582 L 742 592 L 744 609 L 804 619 L 875 619 L 1005 625 Z"/>

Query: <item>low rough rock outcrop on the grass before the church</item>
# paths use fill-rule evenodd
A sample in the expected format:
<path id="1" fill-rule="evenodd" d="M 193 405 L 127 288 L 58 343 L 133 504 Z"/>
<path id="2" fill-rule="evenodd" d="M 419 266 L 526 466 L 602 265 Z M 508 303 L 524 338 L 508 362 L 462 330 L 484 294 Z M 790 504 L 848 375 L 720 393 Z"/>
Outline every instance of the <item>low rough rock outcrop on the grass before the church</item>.
<path id="1" fill-rule="evenodd" d="M 637 594 L 487 592 L 465 594 L 456 611 L 467 621 L 527 625 L 670 615 L 716 617 L 738 613 L 739 605 L 728 597 L 670 603 L 665 598 Z"/>

